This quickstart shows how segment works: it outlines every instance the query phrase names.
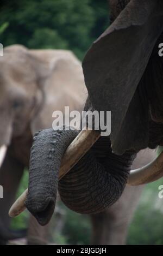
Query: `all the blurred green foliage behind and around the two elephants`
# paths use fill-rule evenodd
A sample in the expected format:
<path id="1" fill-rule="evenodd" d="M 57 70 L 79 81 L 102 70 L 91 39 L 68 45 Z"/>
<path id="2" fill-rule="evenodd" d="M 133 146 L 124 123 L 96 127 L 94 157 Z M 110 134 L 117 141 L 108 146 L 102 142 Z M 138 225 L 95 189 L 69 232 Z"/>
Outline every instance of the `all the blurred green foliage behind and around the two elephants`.
<path id="1" fill-rule="evenodd" d="M 109 26 L 106 0 L 1 0 L 0 8 L 0 42 L 4 46 L 23 44 L 34 49 L 68 49 L 81 60 L 93 40 Z M 163 180 L 145 187 L 129 228 L 129 245 L 163 245 L 163 199 L 158 198 L 161 184 Z M 27 186 L 26 170 L 18 195 Z M 58 244 L 89 244 L 89 216 L 74 213 L 61 203 L 59 208 L 64 226 L 52 232 L 51 240 Z M 27 220 L 26 211 L 12 221 L 12 228 L 26 228 Z"/>

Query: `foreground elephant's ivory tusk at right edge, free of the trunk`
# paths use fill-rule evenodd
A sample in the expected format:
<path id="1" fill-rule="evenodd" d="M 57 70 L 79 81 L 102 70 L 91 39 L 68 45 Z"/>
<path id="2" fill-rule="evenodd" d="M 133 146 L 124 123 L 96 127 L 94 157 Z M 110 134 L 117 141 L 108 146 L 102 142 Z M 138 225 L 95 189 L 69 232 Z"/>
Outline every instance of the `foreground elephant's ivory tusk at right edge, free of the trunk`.
<path id="1" fill-rule="evenodd" d="M 153 162 L 142 168 L 130 172 L 128 182 L 130 186 L 139 186 L 158 180 L 163 176 L 163 152 Z"/>

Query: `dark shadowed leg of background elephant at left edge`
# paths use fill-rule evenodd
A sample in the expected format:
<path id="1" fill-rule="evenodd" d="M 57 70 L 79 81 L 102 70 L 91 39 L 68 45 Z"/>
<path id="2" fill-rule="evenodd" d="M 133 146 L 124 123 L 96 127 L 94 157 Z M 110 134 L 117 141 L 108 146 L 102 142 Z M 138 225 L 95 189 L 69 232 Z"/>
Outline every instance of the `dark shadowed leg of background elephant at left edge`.
<path id="1" fill-rule="evenodd" d="M 9 150 L 0 170 L 0 184 L 3 186 L 3 199 L 0 199 L 0 243 L 12 239 L 9 232 L 10 218 L 8 215 L 10 206 L 15 200 L 18 184 L 20 183 L 24 166 L 14 157 Z"/>

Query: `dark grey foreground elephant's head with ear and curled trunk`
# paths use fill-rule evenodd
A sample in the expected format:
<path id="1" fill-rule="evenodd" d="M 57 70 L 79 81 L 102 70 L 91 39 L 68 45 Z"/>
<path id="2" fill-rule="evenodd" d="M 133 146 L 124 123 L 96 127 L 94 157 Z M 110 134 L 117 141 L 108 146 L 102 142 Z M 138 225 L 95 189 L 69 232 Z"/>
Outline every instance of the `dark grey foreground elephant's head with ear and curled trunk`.
<path id="1" fill-rule="evenodd" d="M 85 110 L 110 110 L 111 135 L 101 136 L 60 181 L 61 158 L 78 133 L 47 129 L 35 135 L 26 206 L 42 225 L 52 216 L 57 188 L 65 205 L 76 212 L 97 213 L 114 204 L 136 153 L 163 142 L 158 55 L 163 3 L 110 2 L 112 24 L 86 53 L 83 72 L 89 92 Z"/>

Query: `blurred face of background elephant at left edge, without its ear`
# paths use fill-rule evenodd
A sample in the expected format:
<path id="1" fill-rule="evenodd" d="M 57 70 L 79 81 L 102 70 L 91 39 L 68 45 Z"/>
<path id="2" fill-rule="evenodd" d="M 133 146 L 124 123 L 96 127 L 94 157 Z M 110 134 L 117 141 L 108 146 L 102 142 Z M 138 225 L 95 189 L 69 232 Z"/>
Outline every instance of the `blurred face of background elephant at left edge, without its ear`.
<path id="1" fill-rule="evenodd" d="M 0 146 L 20 136 L 33 117 L 39 90 L 35 70 L 25 49 L 4 50 L 0 59 Z"/>

